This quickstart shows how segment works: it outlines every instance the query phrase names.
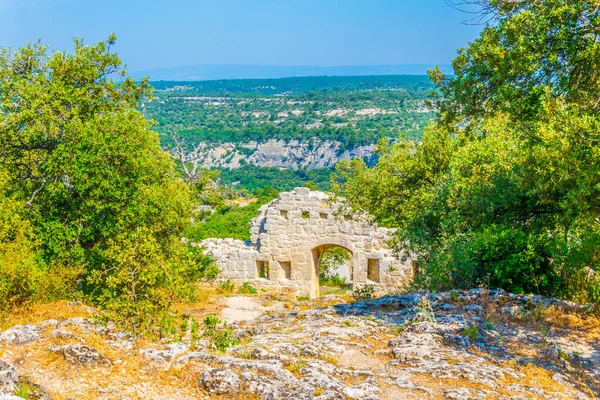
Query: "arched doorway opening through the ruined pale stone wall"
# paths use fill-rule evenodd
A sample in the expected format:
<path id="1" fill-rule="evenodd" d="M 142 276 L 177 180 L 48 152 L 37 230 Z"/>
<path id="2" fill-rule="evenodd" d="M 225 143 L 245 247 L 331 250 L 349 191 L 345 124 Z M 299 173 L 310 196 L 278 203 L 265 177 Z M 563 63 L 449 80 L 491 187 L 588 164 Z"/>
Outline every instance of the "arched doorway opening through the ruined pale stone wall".
<path id="1" fill-rule="evenodd" d="M 314 294 L 345 292 L 354 280 L 354 254 L 339 244 L 322 244 L 312 249 Z"/>

